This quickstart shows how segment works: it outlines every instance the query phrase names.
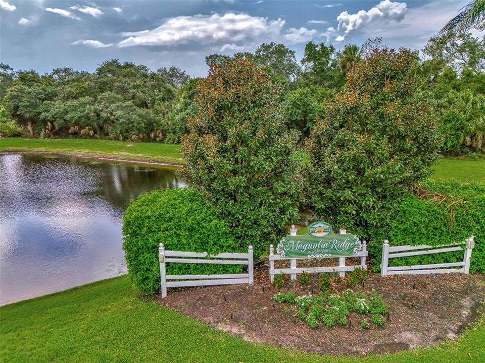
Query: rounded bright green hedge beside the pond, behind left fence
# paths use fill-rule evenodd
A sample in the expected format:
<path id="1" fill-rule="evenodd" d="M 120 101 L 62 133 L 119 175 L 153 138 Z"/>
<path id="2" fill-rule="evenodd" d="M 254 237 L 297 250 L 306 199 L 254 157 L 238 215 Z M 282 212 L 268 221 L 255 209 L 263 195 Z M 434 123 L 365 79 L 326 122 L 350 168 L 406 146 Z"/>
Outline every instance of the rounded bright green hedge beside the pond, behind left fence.
<path id="1" fill-rule="evenodd" d="M 245 252 L 217 213 L 191 189 L 162 189 L 132 200 L 123 216 L 123 251 L 132 283 L 145 293 L 160 287 L 159 244 L 166 250 Z M 167 274 L 234 273 L 239 265 L 167 264 Z"/>

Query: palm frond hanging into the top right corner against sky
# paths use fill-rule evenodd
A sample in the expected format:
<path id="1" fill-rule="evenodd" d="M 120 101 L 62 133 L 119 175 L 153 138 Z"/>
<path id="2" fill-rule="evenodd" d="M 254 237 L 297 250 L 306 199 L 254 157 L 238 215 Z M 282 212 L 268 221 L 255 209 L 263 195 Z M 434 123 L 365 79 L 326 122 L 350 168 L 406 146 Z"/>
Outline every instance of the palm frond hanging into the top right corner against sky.
<path id="1" fill-rule="evenodd" d="M 460 14 L 450 20 L 441 29 L 440 35 L 456 33 L 463 34 L 476 26 L 485 23 L 485 0 L 473 0 L 461 9 Z"/>

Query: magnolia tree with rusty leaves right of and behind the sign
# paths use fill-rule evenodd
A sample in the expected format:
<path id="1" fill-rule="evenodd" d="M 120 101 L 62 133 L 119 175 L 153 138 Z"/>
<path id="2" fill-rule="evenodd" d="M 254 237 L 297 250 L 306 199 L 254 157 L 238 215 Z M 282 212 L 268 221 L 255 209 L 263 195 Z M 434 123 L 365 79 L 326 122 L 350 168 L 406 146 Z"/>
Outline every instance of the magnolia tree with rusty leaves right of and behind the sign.
<path id="1" fill-rule="evenodd" d="M 308 201 L 319 216 L 368 236 L 430 175 L 440 138 L 418 95 L 417 65 L 415 52 L 373 49 L 328 103 L 306 145 Z"/>

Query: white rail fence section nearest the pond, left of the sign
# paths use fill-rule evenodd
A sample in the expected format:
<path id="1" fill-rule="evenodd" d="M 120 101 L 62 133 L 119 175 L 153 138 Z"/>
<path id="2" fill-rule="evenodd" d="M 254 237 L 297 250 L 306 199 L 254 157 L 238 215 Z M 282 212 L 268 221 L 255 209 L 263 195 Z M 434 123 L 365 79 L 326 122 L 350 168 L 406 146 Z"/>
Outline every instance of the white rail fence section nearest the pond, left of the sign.
<path id="1" fill-rule="evenodd" d="M 160 262 L 162 297 L 167 296 L 167 287 L 253 284 L 252 246 L 249 246 L 248 253 L 221 253 L 219 255 L 210 255 L 209 258 L 207 257 L 207 253 L 165 251 L 163 244 L 160 244 L 158 260 Z M 166 263 L 247 265 L 248 273 L 215 275 L 167 275 L 165 272 Z"/>

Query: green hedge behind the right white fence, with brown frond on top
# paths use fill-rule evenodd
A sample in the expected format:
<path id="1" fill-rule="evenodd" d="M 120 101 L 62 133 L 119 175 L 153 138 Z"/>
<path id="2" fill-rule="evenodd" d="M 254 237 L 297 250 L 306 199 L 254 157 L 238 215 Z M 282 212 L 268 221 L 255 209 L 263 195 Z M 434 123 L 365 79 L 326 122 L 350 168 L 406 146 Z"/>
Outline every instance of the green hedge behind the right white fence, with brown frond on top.
<path id="1" fill-rule="evenodd" d="M 398 204 L 389 229 L 373 233 L 369 254 L 374 257 L 374 270 L 379 270 L 382 242 L 391 246 L 446 245 L 460 243 L 475 236 L 470 272 L 485 273 L 485 183 L 479 181 L 426 181 L 432 196 L 409 195 Z M 435 201 L 431 199 L 435 197 Z M 453 203 L 452 205 L 450 205 Z M 421 255 L 390 260 L 390 266 L 457 262 L 463 252 Z"/>

